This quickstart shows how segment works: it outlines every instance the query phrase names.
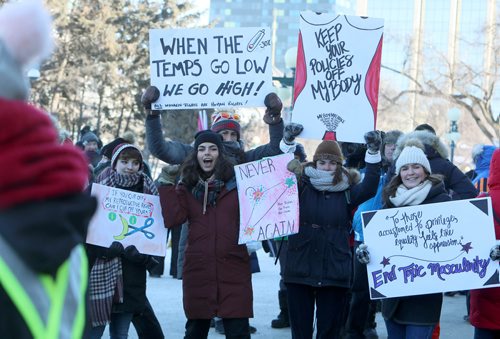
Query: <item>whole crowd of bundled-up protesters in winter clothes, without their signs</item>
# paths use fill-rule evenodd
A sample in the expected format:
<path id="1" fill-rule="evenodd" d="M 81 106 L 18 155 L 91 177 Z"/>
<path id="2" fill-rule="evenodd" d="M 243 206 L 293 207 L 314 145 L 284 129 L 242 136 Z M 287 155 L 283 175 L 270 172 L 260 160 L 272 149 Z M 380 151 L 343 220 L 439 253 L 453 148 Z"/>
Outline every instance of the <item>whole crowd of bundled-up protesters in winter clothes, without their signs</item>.
<path id="1" fill-rule="evenodd" d="M 30 38 L 43 38 L 36 33 Z M 221 110 L 210 129 L 184 144 L 165 139 L 161 115 L 151 109 L 160 93 L 151 86 L 141 99 L 148 114 L 146 142 L 165 163 L 153 178 L 130 134 L 106 145 L 90 128 L 76 145 L 61 138 L 49 115 L 27 103 L 22 63 L 11 48 L 0 36 L 0 74 L 16 79 L 0 86 L 0 154 L 8 164 L 0 170 L 2 337 L 94 339 L 109 325 L 111 338 L 127 338 L 131 324 L 140 338 L 168 337 L 146 296 L 147 272 L 161 275 L 162 258 L 124 247 L 119 239 L 108 247 L 85 243 L 97 208 L 90 194 L 94 183 L 159 196 L 165 227 L 177 230 L 170 274 L 182 279 L 186 339 L 207 338 L 212 323 L 226 338 L 250 338 L 256 331 L 250 325 L 252 273 L 259 268 L 255 245 L 238 244 L 238 164 L 295 155 L 287 169 L 298 182 L 299 231 L 263 244 L 280 261 L 274 302 L 280 313 L 270 324 L 289 327 L 294 339 L 377 337 L 363 211 L 480 194 L 491 197 L 500 239 L 495 146 L 478 147 L 476 170 L 465 175 L 448 160 L 434 129 L 423 124 L 408 133 L 368 131 L 364 144 L 323 140 L 306 161 L 295 140 L 303 126 L 284 124 L 283 104 L 274 93 L 263 103 L 269 143 L 246 150 L 239 115 Z M 490 258 L 498 261 L 500 245 L 491 242 Z M 442 293 L 383 299 L 389 338 L 439 337 L 442 303 Z M 499 311 L 500 288 L 470 292 L 476 339 L 500 336 Z"/>

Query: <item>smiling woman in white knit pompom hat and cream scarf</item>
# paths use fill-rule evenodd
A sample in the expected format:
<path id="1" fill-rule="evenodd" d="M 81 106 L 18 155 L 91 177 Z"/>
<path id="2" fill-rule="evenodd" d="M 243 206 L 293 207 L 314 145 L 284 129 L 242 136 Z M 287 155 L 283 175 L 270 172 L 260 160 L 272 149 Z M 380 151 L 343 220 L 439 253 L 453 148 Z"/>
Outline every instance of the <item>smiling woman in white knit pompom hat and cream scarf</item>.
<path id="1" fill-rule="evenodd" d="M 450 201 L 443 176 L 431 174 L 431 165 L 418 139 L 408 139 L 396 159 L 394 176 L 382 193 L 385 208 L 416 206 Z M 358 261 L 370 262 L 367 245 L 356 250 Z M 423 294 L 382 300 L 382 315 L 389 338 L 430 339 L 439 322 L 442 293 Z"/>

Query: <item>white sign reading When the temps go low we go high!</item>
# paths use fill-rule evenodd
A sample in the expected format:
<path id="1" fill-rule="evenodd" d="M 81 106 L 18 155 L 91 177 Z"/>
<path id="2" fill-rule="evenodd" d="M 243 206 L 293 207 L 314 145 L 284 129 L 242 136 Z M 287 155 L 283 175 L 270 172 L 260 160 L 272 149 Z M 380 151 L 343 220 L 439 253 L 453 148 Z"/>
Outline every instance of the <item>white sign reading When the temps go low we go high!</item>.
<path id="1" fill-rule="evenodd" d="M 269 28 L 152 29 L 153 109 L 264 106 L 272 91 Z"/>

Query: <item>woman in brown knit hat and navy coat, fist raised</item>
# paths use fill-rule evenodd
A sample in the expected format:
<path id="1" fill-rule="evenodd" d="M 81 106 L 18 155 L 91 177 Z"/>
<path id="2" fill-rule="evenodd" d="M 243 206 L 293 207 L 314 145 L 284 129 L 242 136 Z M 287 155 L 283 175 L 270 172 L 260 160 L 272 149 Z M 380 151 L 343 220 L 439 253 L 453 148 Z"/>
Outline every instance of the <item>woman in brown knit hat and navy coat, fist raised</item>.
<path id="1" fill-rule="evenodd" d="M 322 141 L 310 163 L 288 164 L 297 175 L 300 208 L 299 232 L 288 236 L 284 273 L 293 339 L 312 338 L 314 318 L 316 338 L 340 337 L 352 284 L 351 210 L 375 195 L 380 177 L 380 134 L 368 132 L 365 141 L 361 183 L 342 166 L 336 141 Z"/>

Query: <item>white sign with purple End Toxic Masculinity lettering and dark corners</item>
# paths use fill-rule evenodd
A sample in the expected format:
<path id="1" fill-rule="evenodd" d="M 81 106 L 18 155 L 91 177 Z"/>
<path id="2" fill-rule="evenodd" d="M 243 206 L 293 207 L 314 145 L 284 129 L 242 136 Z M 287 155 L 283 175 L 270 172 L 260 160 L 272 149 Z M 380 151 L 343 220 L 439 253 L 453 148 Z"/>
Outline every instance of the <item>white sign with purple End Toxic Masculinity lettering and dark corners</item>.
<path id="1" fill-rule="evenodd" d="M 490 198 L 362 214 L 372 299 L 498 287 Z"/>

